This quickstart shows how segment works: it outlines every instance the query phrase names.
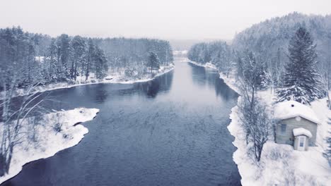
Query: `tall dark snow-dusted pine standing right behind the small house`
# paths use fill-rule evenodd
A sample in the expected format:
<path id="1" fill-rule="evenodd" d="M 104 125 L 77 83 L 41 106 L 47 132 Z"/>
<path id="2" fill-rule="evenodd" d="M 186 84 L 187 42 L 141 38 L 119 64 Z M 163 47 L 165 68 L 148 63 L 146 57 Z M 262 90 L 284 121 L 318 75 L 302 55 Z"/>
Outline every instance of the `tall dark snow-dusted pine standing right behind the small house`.
<path id="1" fill-rule="evenodd" d="M 310 104 L 321 96 L 320 75 L 316 70 L 316 45 L 305 27 L 299 27 L 289 42 L 289 63 L 277 90 L 278 101 L 295 100 Z"/>

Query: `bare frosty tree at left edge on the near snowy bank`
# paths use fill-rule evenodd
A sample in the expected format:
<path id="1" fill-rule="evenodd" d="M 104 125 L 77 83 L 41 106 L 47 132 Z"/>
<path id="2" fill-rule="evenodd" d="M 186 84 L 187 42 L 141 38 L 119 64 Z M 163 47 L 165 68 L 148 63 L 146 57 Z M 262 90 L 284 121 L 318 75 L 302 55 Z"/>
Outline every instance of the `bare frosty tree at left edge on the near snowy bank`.
<path id="1" fill-rule="evenodd" d="M 18 105 L 13 105 L 14 92 L 18 82 L 18 76 L 15 74 L 1 73 L 1 83 L 4 87 L 4 97 L 2 98 L 0 109 L 2 111 L 0 123 L 0 176 L 8 173 L 11 159 L 13 156 L 13 148 L 16 144 L 21 143 L 21 139 L 26 135 L 21 131 L 23 121 L 36 111 L 42 103 L 41 94 L 33 93 L 35 86 L 30 85 L 25 96 L 21 98 Z M 17 104 L 17 103 L 16 103 Z"/>

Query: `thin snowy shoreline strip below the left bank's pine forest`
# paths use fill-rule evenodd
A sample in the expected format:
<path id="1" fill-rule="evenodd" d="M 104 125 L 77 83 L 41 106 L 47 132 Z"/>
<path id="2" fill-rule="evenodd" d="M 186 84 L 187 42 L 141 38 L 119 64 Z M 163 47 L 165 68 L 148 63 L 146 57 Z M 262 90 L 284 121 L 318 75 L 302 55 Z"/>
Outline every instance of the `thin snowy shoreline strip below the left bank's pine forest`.
<path id="1" fill-rule="evenodd" d="M 99 82 L 86 82 L 86 83 L 76 83 L 76 84 L 70 84 L 68 82 L 59 82 L 59 83 L 55 83 L 55 84 L 50 84 L 50 85 L 45 85 L 45 86 L 37 86 L 35 87 L 35 91 L 33 93 L 36 92 L 47 92 L 47 91 L 51 91 L 51 90 L 55 90 L 55 89 L 68 89 L 71 87 L 78 87 L 78 86 L 83 86 L 83 85 L 95 85 L 95 84 L 134 84 L 137 82 L 148 82 L 151 81 L 153 79 L 155 79 L 156 77 L 163 75 L 165 73 L 169 73 L 170 71 L 174 70 L 175 66 L 174 65 L 170 65 L 170 66 L 166 66 L 163 67 L 161 66 L 161 71 L 159 71 L 154 77 L 149 77 L 149 78 L 145 78 L 145 79 L 141 79 L 141 80 L 123 80 L 124 77 L 123 76 L 119 76 L 119 75 L 110 75 L 108 76 L 108 78 L 110 77 L 111 80 L 105 80 L 105 78 L 103 80 L 100 80 Z M 3 94 L 3 92 L 0 92 L 0 96 Z M 25 95 L 25 89 L 17 89 L 15 92 L 15 97 L 19 97 L 19 96 L 23 96 Z"/>

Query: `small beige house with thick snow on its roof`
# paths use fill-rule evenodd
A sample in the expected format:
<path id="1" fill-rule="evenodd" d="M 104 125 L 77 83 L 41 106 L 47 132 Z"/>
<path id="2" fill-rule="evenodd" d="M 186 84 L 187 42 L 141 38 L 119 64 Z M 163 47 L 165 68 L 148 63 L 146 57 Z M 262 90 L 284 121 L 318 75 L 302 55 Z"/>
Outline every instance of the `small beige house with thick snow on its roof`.
<path id="1" fill-rule="evenodd" d="M 274 106 L 275 142 L 290 144 L 298 151 L 315 146 L 320 121 L 313 109 L 297 101 L 284 101 Z"/>

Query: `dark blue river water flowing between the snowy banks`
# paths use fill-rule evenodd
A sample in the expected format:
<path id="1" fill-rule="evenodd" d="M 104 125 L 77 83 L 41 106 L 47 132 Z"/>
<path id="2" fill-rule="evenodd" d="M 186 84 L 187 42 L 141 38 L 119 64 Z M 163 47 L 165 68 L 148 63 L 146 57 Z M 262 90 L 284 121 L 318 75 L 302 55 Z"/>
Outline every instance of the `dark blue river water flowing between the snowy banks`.
<path id="1" fill-rule="evenodd" d="M 100 109 L 76 146 L 3 185 L 240 185 L 227 130 L 238 95 L 215 70 L 175 62 L 151 82 L 58 89 L 54 109 Z"/>

